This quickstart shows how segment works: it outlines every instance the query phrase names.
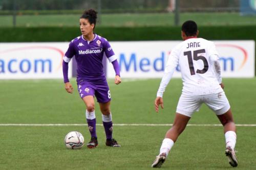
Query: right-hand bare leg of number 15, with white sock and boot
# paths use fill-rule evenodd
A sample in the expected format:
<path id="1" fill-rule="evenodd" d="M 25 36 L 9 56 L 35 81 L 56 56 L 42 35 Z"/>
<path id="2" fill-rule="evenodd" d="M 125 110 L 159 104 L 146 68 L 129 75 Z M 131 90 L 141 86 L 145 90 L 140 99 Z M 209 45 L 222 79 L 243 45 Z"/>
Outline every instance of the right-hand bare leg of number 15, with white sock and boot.
<path id="1" fill-rule="evenodd" d="M 236 125 L 233 121 L 232 112 L 229 109 L 226 113 L 217 115 L 220 119 L 221 124 L 224 127 L 224 134 L 226 139 L 226 150 L 225 154 L 228 158 L 229 164 L 233 167 L 238 166 L 238 160 L 234 153 L 234 147 L 236 146 Z"/>

